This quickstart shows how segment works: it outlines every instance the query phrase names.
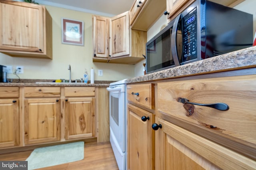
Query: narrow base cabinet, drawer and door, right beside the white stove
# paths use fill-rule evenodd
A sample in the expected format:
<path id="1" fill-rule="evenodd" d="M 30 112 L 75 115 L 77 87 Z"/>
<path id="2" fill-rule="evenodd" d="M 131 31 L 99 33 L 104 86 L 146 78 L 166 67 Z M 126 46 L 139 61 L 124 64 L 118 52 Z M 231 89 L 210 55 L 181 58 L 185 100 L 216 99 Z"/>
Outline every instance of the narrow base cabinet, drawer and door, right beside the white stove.
<path id="1" fill-rule="evenodd" d="M 127 85 L 129 170 L 154 168 L 153 87 L 151 83 Z"/>

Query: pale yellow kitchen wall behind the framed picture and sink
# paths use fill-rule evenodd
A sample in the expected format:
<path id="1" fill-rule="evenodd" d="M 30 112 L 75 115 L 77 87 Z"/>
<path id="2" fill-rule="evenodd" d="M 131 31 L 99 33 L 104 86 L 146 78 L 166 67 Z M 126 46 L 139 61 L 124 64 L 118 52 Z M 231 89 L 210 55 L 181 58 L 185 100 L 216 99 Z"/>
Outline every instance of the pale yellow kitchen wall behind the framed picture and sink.
<path id="1" fill-rule="evenodd" d="M 253 3 L 253 2 L 249 2 Z M 92 63 L 92 15 L 81 12 L 70 12 L 63 8 L 56 8 L 53 6 L 46 6 L 48 12 L 52 16 L 53 22 L 53 60 L 45 59 L 30 59 L 30 58 L 16 58 L 8 55 L 0 54 L 1 64 L 3 65 L 22 65 L 24 66 L 24 74 L 19 74 L 21 79 L 56 79 L 64 78 L 68 80 L 69 70 L 68 64 L 72 67 L 72 79 L 80 79 L 84 74 L 84 68 L 90 70 L 94 67 L 96 73 L 98 69 L 103 70 L 103 76 L 97 76 L 95 74 L 95 80 L 122 80 L 124 78 L 132 79 L 143 74 L 144 61 L 136 64 L 111 64 L 111 63 Z M 74 45 L 63 45 L 61 44 L 61 23 L 60 19 L 73 18 L 76 20 L 83 20 L 85 23 L 85 42 L 84 47 Z M 163 19 L 164 18 L 164 19 Z M 160 27 L 164 24 L 161 22 L 166 20 L 165 17 L 160 18 L 160 23 L 156 27 L 148 30 L 147 39 L 149 40 L 150 31 L 154 36 Z M 254 22 L 255 23 L 255 22 Z M 254 25 L 255 30 L 255 25 Z M 66 57 L 65 57 L 66 56 Z M 72 60 L 70 60 L 72 57 Z M 113 69 L 114 68 L 114 69 Z M 46 71 L 47 70 L 47 71 Z M 49 74 L 54 72 L 54 74 Z M 114 76 L 113 76 L 114 75 Z M 16 78 L 15 75 L 9 74 L 11 78 Z M 166 78 L 166 77 L 164 77 Z"/>

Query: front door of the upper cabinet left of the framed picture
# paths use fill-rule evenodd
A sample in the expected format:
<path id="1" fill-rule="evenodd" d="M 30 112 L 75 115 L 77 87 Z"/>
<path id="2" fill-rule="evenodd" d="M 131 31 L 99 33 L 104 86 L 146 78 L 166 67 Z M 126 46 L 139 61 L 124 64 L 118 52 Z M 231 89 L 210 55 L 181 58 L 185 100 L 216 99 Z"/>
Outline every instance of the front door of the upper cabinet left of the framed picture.
<path id="1" fill-rule="evenodd" d="M 0 49 L 42 52 L 42 6 L 7 1 L 1 2 L 0 7 Z"/>

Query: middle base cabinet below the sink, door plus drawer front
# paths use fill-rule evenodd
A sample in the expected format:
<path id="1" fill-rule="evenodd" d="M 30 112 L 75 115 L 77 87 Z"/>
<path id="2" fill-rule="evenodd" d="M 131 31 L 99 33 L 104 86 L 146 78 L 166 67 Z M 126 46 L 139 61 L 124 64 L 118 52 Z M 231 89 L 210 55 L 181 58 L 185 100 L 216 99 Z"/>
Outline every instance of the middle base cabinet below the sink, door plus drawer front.
<path id="1" fill-rule="evenodd" d="M 24 88 L 25 145 L 60 141 L 60 87 Z"/>

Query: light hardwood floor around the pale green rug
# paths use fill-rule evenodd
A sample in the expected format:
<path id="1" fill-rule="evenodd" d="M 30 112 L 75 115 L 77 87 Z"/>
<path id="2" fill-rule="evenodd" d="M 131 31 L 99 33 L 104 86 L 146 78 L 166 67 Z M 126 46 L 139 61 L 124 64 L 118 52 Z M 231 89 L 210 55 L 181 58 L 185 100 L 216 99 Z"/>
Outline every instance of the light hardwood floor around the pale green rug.
<path id="1" fill-rule="evenodd" d="M 0 160 L 26 160 L 33 150 L 0 154 Z M 109 142 L 85 143 L 84 159 L 39 170 L 118 170 Z"/>

